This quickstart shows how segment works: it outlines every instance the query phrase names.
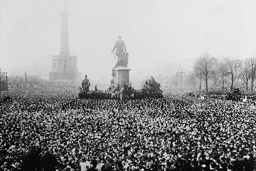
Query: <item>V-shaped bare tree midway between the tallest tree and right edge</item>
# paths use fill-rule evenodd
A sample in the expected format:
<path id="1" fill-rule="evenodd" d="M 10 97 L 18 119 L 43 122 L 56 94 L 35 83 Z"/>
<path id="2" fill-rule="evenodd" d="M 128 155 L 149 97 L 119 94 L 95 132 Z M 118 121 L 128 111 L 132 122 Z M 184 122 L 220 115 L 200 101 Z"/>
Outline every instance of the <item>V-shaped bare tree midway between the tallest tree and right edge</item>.
<path id="1" fill-rule="evenodd" d="M 224 57 L 223 65 L 231 81 L 230 90 L 233 90 L 234 80 L 238 75 L 238 69 L 241 67 L 241 60 L 233 59 L 230 57 Z"/>

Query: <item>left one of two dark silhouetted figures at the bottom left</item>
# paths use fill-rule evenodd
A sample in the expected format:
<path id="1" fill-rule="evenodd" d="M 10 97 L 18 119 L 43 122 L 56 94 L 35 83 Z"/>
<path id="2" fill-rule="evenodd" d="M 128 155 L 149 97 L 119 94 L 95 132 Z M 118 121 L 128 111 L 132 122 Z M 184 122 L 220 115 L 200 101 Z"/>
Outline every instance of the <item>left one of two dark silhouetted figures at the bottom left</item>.
<path id="1" fill-rule="evenodd" d="M 36 147 L 32 147 L 23 156 L 22 170 L 23 171 L 35 171 L 39 164 L 39 153 Z"/>

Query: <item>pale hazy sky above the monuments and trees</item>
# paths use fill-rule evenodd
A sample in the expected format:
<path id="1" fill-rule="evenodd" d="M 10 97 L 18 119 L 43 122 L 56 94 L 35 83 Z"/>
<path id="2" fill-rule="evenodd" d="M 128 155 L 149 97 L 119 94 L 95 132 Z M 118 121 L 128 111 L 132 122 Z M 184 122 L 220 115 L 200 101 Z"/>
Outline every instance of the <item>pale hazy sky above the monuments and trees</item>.
<path id="1" fill-rule="evenodd" d="M 0 0 L 0 67 L 59 54 L 62 6 L 62 0 Z M 146 72 L 142 66 L 150 72 L 154 63 L 182 65 L 203 52 L 256 54 L 256 0 L 67 0 L 67 9 L 69 51 L 91 76 L 111 76 L 118 34 L 131 75 Z"/>

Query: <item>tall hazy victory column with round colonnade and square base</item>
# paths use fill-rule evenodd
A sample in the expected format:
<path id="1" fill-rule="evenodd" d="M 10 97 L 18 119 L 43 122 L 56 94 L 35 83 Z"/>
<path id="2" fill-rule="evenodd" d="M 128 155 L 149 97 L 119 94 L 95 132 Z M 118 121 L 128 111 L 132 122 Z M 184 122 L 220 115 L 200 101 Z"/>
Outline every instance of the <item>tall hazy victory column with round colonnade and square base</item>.
<path id="1" fill-rule="evenodd" d="M 81 80 L 82 72 L 78 72 L 78 56 L 70 55 L 68 47 L 68 12 L 64 3 L 61 16 L 60 52 L 52 56 L 52 69 L 49 72 L 49 79 L 56 80 Z"/>

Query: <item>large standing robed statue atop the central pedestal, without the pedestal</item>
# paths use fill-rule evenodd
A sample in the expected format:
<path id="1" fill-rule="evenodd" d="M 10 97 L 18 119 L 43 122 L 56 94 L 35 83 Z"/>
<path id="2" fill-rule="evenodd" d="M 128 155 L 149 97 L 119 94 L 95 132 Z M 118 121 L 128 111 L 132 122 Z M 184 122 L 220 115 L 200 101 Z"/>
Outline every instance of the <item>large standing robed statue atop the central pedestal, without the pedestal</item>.
<path id="1" fill-rule="evenodd" d="M 112 76 L 114 77 L 114 69 L 120 65 L 128 65 L 128 53 L 126 51 L 124 40 L 121 40 L 121 36 L 118 36 L 118 40 L 116 40 L 115 45 L 111 52 L 116 49 L 115 54 L 117 55 L 118 61 L 115 67 L 112 69 Z"/>

